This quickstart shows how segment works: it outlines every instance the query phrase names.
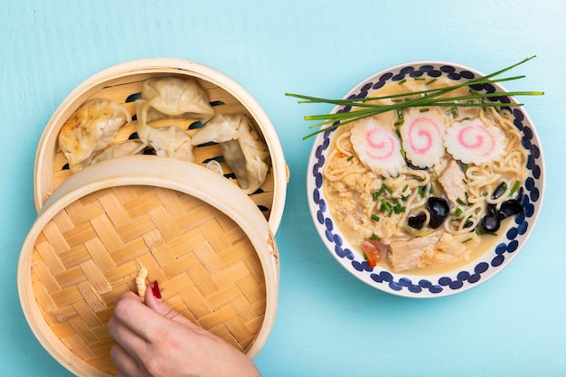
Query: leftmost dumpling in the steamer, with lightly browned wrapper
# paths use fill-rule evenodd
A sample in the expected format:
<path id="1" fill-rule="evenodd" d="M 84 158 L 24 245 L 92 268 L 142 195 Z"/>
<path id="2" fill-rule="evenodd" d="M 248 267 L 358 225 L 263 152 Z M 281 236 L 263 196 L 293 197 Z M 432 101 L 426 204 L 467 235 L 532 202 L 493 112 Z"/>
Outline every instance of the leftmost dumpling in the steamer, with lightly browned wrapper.
<path id="1" fill-rule="evenodd" d="M 132 121 L 126 108 L 109 99 L 90 99 L 77 109 L 59 133 L 59 147 L 72 173 L 90 165 L 118 129 Z"/>

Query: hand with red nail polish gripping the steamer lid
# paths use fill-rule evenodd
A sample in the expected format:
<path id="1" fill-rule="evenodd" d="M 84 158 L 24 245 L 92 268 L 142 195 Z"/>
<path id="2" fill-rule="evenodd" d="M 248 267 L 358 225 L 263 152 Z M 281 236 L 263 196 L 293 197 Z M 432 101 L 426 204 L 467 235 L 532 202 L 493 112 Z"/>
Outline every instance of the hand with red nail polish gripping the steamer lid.
<path id="1" fill-rule="evenodd" d="M 260 377 L 244 353 L 168 306 L 156 284 L 146 305 L 133 292 L 118 298 L 108 322 L 117 377 Z"/>

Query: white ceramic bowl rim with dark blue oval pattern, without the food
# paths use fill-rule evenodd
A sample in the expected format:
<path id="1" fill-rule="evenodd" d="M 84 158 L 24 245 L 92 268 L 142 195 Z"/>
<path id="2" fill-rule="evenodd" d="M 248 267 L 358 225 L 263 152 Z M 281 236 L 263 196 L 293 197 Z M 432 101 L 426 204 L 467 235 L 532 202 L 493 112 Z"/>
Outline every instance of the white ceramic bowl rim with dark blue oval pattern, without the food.
<path id="1" fill-rule="evenodd" d="M 456 80 L 473 80 L 484 74 L 467 67 L 439 61 L 417 61 L 391 67 L 379 71 L 357 84 L 344 99 L 365 98 L 373 90 L 383 85 L 408 78 L 448 77 Z M 507 91 L 497 83 L 483 84 L 483 90 Z M 503 103 L 517 101 L 513 97 L 499 97 Z M 348 272 L 364 283 L 384 292 L 403 297 L 443 297 L 463 292 L 471 287 L 485 282 L 497 272 L 504 269 L 524 247 L 531 235 L 542 208 L 544 193 L 544 161 L 542 146 L 531 119 L 523 107 L 510 107 L 514 116 L 514 126 L 523 133 L 523 146 L 528 151 L 527 178 L 524 182 L 522 204 L 524 212 L 512 219 L 512 224 L 506 231 L 498 232 L 495 247 L 486 250 L 476 259 L 471 259 L 466 265 L 457 269 L 436 275 L 418 275 L 395 273 L 384 269 L 380 264 L 369 267 L 363 252 L 356 250 L 344 237 L 339 224 L 333 219 L 329 204 L 325 199 L 322 174 L 326 155 L 333 130 L 327 130 L 316 135 L 307 168 L 307 199 L 309 209 L 321 239 L 330 254 Z M 332 112 L 348 111 L 348 108 L 336 106 Z"/>

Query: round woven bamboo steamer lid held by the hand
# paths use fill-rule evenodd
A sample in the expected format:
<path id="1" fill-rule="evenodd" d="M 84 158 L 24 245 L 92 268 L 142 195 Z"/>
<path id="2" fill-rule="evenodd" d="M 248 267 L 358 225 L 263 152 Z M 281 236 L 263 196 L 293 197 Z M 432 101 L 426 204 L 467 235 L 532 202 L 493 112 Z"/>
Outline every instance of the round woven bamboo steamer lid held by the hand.
<path id="1" fill-rule="evenodd" d="M 89 166 L 43 205 L 18 266 L 34 335 L 71 372 L 113 375 L 108 320 L 119 295 L 136 291 L 140 266 L 184 316 L 259 353 L 277 306 L 269 223 L 229 180 L 157 156 Z"/>

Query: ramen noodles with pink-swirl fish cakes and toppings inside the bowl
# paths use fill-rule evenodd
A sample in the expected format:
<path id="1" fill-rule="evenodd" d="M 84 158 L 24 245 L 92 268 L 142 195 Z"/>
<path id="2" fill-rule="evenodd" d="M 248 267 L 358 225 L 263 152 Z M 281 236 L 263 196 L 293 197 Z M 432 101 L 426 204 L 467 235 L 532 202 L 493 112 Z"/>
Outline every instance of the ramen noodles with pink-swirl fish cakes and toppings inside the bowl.
<path id="1" fill-rule="evenodd" d="M 411 79 L 370 97 L 449 85 L 454 81 L 427 86 Z M 335 129 L 323 169 L 325 196 L 370 267 L 379 262 L 406 271 L 466 261 L 495 234 L 496 214 L 520 202 L 527 161 L 521 140 L 505 108 L 405 108 L 364 118 Z"/>

